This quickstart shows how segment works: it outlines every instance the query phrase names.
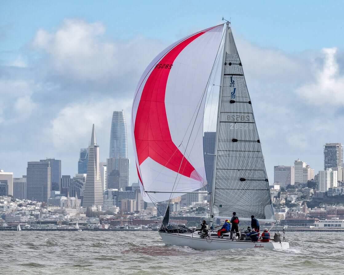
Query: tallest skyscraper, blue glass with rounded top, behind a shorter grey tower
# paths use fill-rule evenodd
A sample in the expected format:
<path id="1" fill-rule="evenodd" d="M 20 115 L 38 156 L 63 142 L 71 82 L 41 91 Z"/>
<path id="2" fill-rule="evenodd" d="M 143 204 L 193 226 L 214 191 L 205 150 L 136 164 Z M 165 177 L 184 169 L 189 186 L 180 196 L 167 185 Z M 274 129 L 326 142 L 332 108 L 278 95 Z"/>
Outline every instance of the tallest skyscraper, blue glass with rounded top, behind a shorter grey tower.
<path id="1" fill-rule="evenodd" d="M 109 158 L 111 157 L 128 158 L 127 126 L 123 110 L 112 114 Z"/>

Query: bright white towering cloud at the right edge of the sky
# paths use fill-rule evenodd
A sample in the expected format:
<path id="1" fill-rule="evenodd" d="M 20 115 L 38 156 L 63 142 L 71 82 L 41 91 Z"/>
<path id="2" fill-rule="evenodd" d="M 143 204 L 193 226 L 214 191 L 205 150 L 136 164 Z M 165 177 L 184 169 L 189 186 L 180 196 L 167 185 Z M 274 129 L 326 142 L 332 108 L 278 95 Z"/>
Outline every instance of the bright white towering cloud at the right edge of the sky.
<path id="1" fill-rule="evenodd" d="M 336 47 L 322 49 L 324 64 L 322 68 L 315 69 L 311 83 L 305 83 L 295 91 L 299 97 L 318 106 L 344 105 L 344 75 L 339 73 L 336 53 Z"/>

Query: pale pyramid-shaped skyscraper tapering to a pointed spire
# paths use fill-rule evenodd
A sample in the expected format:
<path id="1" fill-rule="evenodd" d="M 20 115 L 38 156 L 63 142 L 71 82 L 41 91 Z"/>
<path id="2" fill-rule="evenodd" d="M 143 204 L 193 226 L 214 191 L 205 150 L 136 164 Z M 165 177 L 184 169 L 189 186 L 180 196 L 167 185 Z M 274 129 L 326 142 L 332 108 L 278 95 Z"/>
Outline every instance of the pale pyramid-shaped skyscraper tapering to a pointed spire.
<path id="1" fill-rule="evenodd" d="M 103 206 L 103 188 L 99 170 L 99 146 L 93 124 L 91 143 L 88 146 L 87 176 L 83 206 Z"/>

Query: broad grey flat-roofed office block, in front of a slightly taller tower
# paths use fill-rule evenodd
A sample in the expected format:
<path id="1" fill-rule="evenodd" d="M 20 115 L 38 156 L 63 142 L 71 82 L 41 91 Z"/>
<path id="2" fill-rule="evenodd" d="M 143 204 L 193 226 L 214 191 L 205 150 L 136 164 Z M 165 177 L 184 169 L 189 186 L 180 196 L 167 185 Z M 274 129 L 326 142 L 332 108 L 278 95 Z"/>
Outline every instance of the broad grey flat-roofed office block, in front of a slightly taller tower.
<path id="1" fill-rule="evenodd" d="M 26 199 L 45 201 L 50 198 L 51 167 L 49 161 L 28 162 L 26 169 Z"/>

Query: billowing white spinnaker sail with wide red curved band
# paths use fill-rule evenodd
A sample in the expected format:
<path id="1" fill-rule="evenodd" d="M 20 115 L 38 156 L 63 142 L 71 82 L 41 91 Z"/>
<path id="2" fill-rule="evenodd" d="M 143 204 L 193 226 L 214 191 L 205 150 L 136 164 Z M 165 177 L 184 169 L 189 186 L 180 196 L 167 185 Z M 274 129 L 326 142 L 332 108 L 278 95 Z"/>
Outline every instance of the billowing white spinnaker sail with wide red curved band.
<path id="1" fill-rule="evenodd" d="M 203 111 L 222 31 L 218 25 L 170 45 L 139 81 L 131 131 L 144 201 L 168 200 L 207 184 Z"/>

